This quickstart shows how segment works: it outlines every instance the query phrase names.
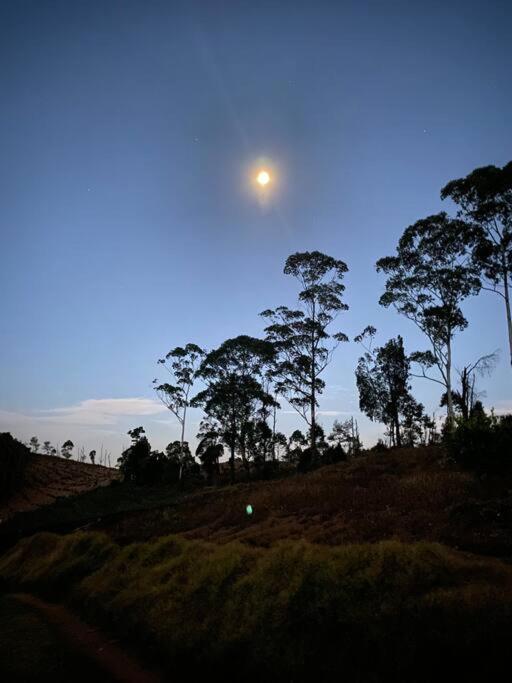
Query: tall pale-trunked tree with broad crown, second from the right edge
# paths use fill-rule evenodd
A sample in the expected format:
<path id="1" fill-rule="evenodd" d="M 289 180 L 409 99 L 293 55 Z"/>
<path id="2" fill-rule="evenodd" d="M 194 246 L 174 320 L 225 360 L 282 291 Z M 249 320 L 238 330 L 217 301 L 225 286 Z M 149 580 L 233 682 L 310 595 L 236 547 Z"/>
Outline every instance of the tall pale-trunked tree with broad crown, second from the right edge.
<path id="1" fill-rule="evenodd" d="M 457 331 L 467 327 L 460 305 L 478 293 L 480 279 L 468 259 L 464 221 L 445 213 L 429 216 L 408 227 L 397 247 L 396 256 L 377 261 L 377 270 L 388 275 L 382 306 L 393 305 L 412 320 L 430 341 L 429 351 L 410 355 L 421 368 L 421 376 L 443 386 L 448 395 L 447 422 L 453 422 L 452 341 Z M 436 367 L 440 379 L 427 374 Z"/>

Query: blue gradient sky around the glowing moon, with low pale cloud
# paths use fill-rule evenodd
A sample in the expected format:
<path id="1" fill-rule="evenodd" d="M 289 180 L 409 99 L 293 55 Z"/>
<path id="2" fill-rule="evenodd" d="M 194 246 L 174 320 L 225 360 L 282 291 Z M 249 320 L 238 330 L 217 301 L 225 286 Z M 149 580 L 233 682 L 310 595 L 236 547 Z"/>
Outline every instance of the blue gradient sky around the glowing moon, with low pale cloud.
<path id="1" fill-rule="evenodd" d="M 349 266 L 351 338 L 412 323 L 381 309 L 375 261 L 441 209 L 450 179 L 512 158 L 510 2 L 0 3 L 0 429 L 117 456 L 155 403 L 157 358 L 262 334 L 293 305 L 294 251 Z M 262 205 L 248 174 L 278 169 Z M 455 363 L 502 349 L 480 381 L 512 408 L 501 300 L 469 301 Z M 339 349 L 321 402 L 357 412 L 360 349 Z M 436 385 L 417 396 L 436 408 Z M 280 427 L 300 426 L 284 411 Z M 192 416 L 189 436 L 200 415 Z"/>

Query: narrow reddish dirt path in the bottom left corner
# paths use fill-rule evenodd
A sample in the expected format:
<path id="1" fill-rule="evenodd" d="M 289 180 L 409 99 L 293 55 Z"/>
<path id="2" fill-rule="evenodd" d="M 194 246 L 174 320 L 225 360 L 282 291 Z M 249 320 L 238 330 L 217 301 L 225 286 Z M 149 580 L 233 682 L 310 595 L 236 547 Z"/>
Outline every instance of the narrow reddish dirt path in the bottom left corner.
<path id="1" fill-rule="evenodd" d="M 78 619 L 63 605 L 44 602 L 26 593 L 17 593 L 13 597 L 35 609 L 66 645 L 104 671 L 108 676 L 106 680 L 119 683 L 164 683 L 166 680 L 160 674 L 144 669 L 111 638 Z"/>

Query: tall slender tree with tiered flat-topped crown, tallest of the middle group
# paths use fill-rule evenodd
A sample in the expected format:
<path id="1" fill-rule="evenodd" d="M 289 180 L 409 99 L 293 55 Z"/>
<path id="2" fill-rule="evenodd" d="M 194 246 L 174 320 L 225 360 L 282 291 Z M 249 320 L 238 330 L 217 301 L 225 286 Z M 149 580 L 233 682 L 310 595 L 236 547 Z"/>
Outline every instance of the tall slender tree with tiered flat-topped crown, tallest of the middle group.
<path id="1" fill-rule="evenodd" d="M 341 332 L 331 334 L 329 326 L 348 306 L 342 296 L 342 280 L 348 268 L 343 261 L 318 251 L 296 253 L 286 260 L 284 273 L 297 278 L 301 308 L 279 306 L 261 315 L 271 324 L 265 329 L 274 344 L 276 388 L 309 426 L 310 448 L 316 451 L 316 409 L 325 382 L 321 374 L 339 342 L 348 341 Z"/>

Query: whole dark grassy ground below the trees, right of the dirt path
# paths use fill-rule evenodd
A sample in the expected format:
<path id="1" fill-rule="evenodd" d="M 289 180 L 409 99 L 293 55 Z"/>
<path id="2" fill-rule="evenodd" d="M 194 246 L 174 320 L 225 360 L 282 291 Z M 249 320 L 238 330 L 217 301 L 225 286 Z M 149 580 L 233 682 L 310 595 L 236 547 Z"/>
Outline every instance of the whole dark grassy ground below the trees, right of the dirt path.
<path id="1" fill-rule="evenodd" d="M 512 637 L 511 490 L 437 449 L 189 493 L 115 485 L 0 528 L 0 581 L 66 604 L 165 680 L 490 680 Z M 58 524 L 82 530 L 12 546 Z M 5 604 L 3 633 L 27 609 Z M 18 646 L 30 669 L 37 648 Z M 83 657 L 66 652 L 63 670 Z"/>

